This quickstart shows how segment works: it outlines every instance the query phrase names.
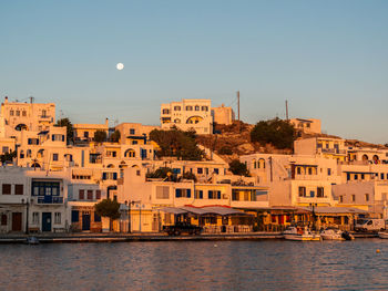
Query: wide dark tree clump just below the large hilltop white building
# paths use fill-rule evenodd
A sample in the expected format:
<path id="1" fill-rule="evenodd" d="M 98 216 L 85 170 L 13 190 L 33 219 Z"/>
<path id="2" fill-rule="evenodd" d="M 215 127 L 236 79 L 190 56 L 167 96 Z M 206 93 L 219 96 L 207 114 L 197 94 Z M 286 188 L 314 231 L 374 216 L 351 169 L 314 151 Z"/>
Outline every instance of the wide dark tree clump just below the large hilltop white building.
<path id="1" fill-rule="evenodd" d="M 201 160 L 205 155 L 198 148 L 193 132 L 183 132 L 176 127 L 170 131 L 154 129 L 150 133 L 150 139 L 160 146 L 161 149 L 156 152 L 159 157 L 169 156 L 183 160 Z"/>

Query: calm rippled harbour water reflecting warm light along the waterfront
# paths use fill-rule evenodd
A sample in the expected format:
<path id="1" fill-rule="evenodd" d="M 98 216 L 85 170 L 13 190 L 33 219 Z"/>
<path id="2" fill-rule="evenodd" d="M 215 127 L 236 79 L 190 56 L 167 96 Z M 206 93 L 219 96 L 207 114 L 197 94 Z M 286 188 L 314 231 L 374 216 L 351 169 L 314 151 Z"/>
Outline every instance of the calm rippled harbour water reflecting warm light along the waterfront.
<path id="1" fill-rule="evenodd" d="M 374 289 L 388 240 L 0 246 L 0 290 Z"/>

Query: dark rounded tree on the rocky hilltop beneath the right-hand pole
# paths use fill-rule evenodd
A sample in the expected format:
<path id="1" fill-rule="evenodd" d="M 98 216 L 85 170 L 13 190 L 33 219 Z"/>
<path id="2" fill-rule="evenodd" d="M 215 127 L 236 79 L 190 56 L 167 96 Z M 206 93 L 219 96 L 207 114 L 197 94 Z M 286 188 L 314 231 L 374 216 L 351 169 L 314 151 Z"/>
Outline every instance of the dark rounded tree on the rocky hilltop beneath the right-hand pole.
<path id="1" fill-rule="evenodd" d="M 277 117 L 258 122 L 251 132 L 252 142 L 258 142 L 262 145 L 272 144 L 279 149 L 293 148 L 295 137 L 294 126 Z"/>

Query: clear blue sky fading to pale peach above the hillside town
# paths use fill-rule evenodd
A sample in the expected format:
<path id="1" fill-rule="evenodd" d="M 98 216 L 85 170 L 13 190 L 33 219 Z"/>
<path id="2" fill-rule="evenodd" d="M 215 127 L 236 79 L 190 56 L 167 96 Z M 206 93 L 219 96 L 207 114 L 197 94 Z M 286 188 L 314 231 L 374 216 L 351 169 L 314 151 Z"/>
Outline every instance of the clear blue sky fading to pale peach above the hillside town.
<path id="1" fill-rule="evenodd" d="M 211 98 L 257 123 L 320 118 L 388 143 L 388 1 L 1 1 L 0 98 L 54 102 L 72 123 L 160 124 Z M 124 70 L 115 69 L 123 63 Z"/>

